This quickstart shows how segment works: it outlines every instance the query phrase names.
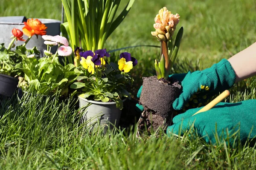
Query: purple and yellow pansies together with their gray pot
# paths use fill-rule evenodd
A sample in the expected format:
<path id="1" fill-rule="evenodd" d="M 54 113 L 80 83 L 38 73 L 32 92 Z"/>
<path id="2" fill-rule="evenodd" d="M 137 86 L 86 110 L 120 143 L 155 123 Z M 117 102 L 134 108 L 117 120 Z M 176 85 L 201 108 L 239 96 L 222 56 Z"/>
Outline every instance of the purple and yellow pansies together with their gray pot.
<path id="1" fill-rule="evenodd" d="M 90 104 L 82 110 L 82 122 L 87 120 L 93 124 L 99 120 L 100 125 L 110 122 L 118 126 L 123 101 L 131 98 L 125 89 L 125 85 L 133 81 L 128 72 L 137 65 L 137 59 L 124 52 L 120 54 L 117 65 L 105 61 L 106 57 L 110 57 L 106 49 L 83 52 L 81 48 L 76 48 L 75 54 L 83 74 L 70 88 L 77 89 L 81 108 Z M 112 128 L 111 124 L 108 126 Z"/>

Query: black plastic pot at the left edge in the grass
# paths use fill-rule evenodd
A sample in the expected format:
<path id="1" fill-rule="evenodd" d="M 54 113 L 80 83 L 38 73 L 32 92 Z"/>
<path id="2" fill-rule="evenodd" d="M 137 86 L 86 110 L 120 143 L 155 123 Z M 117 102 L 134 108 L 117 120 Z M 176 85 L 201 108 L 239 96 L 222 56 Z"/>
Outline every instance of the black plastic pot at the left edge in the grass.
<path id="1" fill-rule="evenodd" d="M 5 74 L 0 74 L 0 94 L 11 97 L 17 88 L 19 79 Z"/>

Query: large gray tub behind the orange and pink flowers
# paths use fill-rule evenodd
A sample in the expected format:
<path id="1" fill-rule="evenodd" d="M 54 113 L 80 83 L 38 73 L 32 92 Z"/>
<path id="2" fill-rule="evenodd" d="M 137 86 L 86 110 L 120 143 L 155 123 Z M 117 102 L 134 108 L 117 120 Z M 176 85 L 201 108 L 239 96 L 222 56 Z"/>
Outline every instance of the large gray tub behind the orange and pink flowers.
<path id="1" fill-rule="evenodd" d="M 52 20 L 52 19 L 38 19 L 42 23 L 45 24 L 48 28 L 46 29 L 47 35 L 59 35 L 61 33 L 61 21 Z M 24 23 L 26 22 L 26 17 L 24 16 L 13 16 L 13 17 L 0 17 L 0 43 L 4 43 L 7 48 L 9 43 L 11 42 L 10 37 L 12 36 L 12 29 L 17 28 L 22 31 L 24 27 Z M 28 37 L 23 35 L 23 39 L 26 40 Z M 17 45 L 22 45 L 24 41 L 18 41 Z M 16 44 L 16 42 L 15 42 Z M 41 52 L 41 57 L 44 55 L 44 50 L 47 49 L 47 45 L 44 44 L 44 39 L 42 36 L 38 36 L 38 38 L 34 35 L 26 45 L 26 48 L 30 49 L 36 46 L 38 50 Z M 57 50 L 57 46 L 52 47 L 51 52 L 55 53 Z"/>

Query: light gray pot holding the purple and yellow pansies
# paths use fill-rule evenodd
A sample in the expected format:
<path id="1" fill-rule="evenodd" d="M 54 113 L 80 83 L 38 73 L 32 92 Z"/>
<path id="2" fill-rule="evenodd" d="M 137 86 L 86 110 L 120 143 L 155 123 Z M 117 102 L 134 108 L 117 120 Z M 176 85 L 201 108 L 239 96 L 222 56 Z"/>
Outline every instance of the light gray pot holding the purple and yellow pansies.
<path id="1" fill-rule="evenodd" d="M 89 106 L 85 107 L 87 105 Z M 116 108 L 116 102 L 97 102 L 79 97 L 79 107 L 85 107 L 81 110 L 81 122 L 87 121 L 88 127 L 96 127 L 99 121 L 100 125 L 104 126 L 103 133 L 106 133 L 108 127 L 113 129 L 113 125 L 119 125 L 122 111 Z"/>

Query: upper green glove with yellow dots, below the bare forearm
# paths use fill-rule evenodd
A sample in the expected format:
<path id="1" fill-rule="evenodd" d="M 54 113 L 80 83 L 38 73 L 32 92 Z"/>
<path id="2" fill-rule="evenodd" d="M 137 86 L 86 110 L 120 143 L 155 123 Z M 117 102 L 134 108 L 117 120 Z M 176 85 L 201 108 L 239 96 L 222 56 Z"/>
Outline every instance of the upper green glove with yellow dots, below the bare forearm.
<path id="1" fill-rule="evenodd" d="M 182 80 L 182 92 L 174 102 L 177 111 L 206 105 L 212 96 L 232 87 L 236 74 L 227 59 L 203 71 L 188 72 Z"/>

